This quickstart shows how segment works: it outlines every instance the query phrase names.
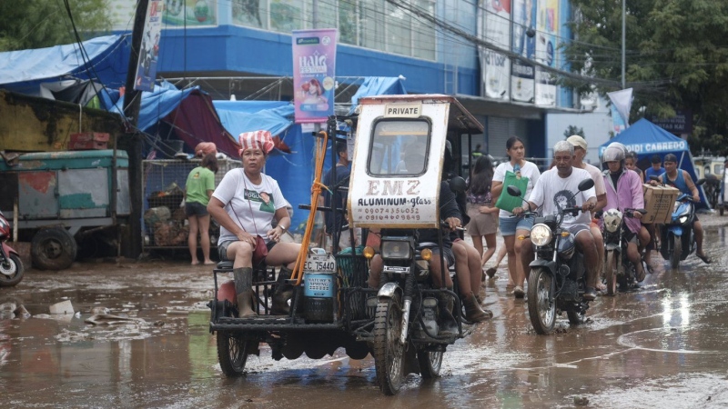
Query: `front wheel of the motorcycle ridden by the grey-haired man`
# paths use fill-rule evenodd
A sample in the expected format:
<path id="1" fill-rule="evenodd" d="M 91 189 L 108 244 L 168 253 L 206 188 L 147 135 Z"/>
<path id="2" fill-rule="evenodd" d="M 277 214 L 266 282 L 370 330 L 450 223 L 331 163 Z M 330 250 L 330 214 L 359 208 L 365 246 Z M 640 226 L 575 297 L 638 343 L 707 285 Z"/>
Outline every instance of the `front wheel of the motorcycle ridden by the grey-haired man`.
<path id="1" fill-rule="evenodd" d="M 537 334 L 550 334 L 556 324 L 556 300 L 549 301 L 551 280 L 543 268 L 534 268 L 529 275 L 529 318 Z"/>

